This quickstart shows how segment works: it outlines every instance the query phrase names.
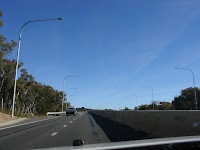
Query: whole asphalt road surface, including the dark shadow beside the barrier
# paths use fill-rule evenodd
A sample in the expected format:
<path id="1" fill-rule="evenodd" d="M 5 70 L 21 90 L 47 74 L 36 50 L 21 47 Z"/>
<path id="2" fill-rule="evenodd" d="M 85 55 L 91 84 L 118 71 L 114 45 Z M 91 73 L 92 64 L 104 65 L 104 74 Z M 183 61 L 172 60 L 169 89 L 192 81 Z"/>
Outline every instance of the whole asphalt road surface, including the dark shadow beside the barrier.
<path id="1" fill-rule="evenodd" d="M 76 116 L 27 119 L 0 128 L 0 150 L 27 150 L 72 146 L 81 139 L 85 144 L 107 143 L 147 136 L 103 117 L 79 112 Z"/>

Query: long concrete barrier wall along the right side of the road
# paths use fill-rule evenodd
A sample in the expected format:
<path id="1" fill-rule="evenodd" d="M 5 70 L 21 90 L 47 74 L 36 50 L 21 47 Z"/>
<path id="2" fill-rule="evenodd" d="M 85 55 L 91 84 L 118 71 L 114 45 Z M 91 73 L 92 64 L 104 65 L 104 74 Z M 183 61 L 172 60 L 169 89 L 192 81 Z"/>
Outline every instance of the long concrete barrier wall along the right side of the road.
<path id="1" fill-rule="evenodd" d="M 101 111 L 91 113 L 128 125 L 150 137 L 200 135 L 199 110 Z"/>

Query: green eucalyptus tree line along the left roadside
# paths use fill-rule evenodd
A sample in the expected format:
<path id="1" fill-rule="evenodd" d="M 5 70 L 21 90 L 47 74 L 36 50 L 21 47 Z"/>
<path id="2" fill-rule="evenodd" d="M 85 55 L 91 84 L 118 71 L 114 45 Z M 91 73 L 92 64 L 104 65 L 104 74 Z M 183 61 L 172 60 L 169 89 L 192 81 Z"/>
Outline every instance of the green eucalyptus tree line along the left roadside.
<path id="1" fill-rule="evenodd" d="M 0 11 L 0 17 L 2 15 Z M 0 27 L 3 28 L 2 20 L 0 20 Z M 8 56 L 16 46 L 15 41 L 8 42 L 6 37 L 0 35 L 0 101 L 1 111 L 7 113 L 12 109 L 16 69 L 16 60 L 8 59 Z M 23 68 L 22 62 L 19 63 L 19 70 L 21 75 L 17 79 L 15 115 L 45 115 L 47 111 L 61 111 L 63 92 L 37 82 Z"/>

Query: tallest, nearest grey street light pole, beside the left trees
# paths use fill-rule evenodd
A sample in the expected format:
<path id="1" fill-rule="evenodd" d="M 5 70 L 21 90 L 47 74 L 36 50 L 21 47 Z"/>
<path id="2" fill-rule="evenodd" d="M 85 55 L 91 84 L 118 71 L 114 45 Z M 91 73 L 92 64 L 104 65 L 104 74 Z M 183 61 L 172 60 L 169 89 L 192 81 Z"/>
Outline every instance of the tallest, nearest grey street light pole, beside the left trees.
<path id="1" fill-rule="evenodd" d="M 14 82 L 14 93 L 13 93 L 13 105 L 12 105 L 12 115 L 14 117 L 14 109 L 15 109 L 15 94 L 16 94 L 16 85 L 17 85 L 17 70 L 18 70 L 18 63 L 19 63 L 19 51 L 20 51 L 20 44 L 21 44 L 21 37 L 22 37 L 22 30 L 25 25 L 31 22 L 39 22 L 39 21 L 51 21 L 51 20 L 63 20 L 63 18 L 56 18 L 56 19 L 44 19 L 44 20 L 33 20 L 26 22 L 20 29 L 19 33 L 19 42 L 18 42 L 18 50 L 17 50 L 17 63 L 16 63 L 16 70 L 15 70 L 15 82 Z"/>

